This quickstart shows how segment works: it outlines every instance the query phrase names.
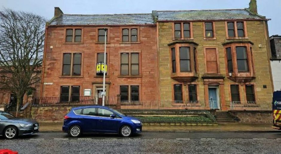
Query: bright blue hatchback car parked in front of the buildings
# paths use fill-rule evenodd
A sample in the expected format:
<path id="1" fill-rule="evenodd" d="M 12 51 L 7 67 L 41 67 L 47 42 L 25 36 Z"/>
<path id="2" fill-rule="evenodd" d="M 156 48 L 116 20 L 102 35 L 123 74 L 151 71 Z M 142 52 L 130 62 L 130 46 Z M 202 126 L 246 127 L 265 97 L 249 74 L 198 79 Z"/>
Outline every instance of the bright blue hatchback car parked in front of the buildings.
<path id="1" fill-rule="evenodd" d="M 142 131 L 142 122 L 106 106 L 81 106 L 65 115 L 62 131 L 71 137 L 93 132 L 129 137 Z"/>

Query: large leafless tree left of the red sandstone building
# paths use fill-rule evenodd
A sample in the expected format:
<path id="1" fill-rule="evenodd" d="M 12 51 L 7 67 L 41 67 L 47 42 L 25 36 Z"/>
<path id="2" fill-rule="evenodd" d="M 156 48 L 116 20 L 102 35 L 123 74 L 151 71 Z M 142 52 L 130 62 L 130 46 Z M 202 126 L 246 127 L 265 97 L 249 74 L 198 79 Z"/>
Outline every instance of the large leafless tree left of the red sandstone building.
<path id="1" fill-rule="evenodd" d="M 0 83 L 17 97 L 16 116 L 27 90 L 40 81 L 45 22 L 33 13 L 0 11 Z"/>

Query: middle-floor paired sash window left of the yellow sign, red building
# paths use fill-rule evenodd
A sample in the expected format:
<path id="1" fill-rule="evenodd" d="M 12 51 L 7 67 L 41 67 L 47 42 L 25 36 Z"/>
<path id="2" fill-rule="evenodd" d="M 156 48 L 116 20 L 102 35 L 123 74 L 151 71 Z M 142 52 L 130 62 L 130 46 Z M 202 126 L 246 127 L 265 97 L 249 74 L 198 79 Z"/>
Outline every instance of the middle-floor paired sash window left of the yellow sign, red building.
<path id="1" fill-rule="evenodd" d="M 64 53 L 62 60 L 62 75 L 81 75 L 81 60 L 81 53 L 73 53 L 73 60 L 71 53 Z"/>

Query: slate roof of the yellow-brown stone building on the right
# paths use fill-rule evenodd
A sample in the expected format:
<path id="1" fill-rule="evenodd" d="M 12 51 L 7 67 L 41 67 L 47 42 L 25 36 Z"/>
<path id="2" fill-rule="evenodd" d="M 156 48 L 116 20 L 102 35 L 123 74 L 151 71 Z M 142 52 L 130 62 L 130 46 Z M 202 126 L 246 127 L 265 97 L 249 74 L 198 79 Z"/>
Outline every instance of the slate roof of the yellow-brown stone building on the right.
<path id="1" fill-rule="evenodd" d="M 182 11 L 156 11 L 158 21 L 165 20 L 225 20 L 225 19 L 263 19 L 261 16 L 251 14 L 246 9 L 232 10 L 182 10 Z"/>

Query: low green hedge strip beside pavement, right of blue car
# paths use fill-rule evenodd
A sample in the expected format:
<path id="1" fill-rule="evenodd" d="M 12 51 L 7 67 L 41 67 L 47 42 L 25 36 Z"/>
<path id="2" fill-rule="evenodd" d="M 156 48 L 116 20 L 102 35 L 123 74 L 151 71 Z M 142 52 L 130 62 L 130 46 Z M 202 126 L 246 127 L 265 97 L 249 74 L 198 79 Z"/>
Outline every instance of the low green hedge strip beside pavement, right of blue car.
<path id="1" fill-rule="evenodd" d="M 193 117 L 136 117 L 143 123 L 212 123 L 210 118 L 203 116 Z"/>

